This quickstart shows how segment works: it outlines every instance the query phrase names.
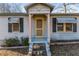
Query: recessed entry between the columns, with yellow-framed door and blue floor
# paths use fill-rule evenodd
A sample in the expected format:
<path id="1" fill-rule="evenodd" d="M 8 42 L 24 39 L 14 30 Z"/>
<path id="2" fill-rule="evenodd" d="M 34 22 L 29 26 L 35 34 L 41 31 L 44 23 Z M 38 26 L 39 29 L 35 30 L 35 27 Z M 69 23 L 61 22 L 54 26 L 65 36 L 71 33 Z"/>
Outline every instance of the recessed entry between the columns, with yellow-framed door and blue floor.
<path id="1" fill-rule="evenodd" d="M 33 15 L 32 20 L 32 42 L 47 41 L 47 19 L 46 15 Z"/>

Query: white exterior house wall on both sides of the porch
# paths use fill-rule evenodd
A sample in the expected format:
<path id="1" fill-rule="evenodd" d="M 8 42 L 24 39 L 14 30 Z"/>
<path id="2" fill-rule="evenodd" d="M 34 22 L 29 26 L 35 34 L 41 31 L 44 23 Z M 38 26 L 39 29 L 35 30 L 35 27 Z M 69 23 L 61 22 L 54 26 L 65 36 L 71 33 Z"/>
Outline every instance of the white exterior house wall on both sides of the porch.
<path id="1" fill-rule="evenodd" d="M 29 34 L 29 22 L 28 16 L 16 16 L 16 17 L 23 17 L 24 18 L 24 32 L 8 32 L 8 17 L 15 17 L 15 16 L 0 16 L 0 44 L 6 38 L 12 37 L 28 37 Z M 51 38 L 52 40 L 79 40 L 79 18 L 77 18 L 77 32 L 52 32 L 52 18 L 50 19 L 51 22 Z M 47 23 L 47 21 L 45 21 Z M 34 31 L 34 19 L 32 19 L 32 36 L 35 36 Z M 45 25 L 45 36 L 47 36 L 47 25 Z"/>

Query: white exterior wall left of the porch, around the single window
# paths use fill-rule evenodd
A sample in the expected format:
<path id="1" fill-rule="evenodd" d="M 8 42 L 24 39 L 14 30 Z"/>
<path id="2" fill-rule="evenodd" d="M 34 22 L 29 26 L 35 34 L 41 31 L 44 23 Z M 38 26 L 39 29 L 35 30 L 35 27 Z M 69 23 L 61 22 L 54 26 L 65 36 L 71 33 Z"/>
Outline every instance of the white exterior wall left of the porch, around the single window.
<path id="1" fill-rule="evenodd" d="M 28 37 L 28 17 L 27 16 L 16 16 L 24 18 L 24 32 L 8 32 L 8 17 L 15 16 L 0 16 L 0 43 L 6 38 L 12 37 Z"/>

